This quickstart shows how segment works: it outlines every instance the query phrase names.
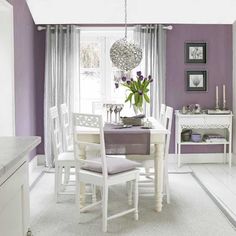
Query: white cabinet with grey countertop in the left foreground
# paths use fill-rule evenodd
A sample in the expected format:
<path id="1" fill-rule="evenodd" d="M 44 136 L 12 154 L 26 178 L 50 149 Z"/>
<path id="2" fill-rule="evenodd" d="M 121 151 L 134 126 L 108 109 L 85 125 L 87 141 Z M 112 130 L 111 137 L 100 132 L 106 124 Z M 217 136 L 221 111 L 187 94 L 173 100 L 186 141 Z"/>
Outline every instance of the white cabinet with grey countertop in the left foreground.
<path id="1" fill-rule="evenodd" d="M 28 235 L 28 153 L 40 141 L 40 137 L 0 137 L 1 236 Z"/>

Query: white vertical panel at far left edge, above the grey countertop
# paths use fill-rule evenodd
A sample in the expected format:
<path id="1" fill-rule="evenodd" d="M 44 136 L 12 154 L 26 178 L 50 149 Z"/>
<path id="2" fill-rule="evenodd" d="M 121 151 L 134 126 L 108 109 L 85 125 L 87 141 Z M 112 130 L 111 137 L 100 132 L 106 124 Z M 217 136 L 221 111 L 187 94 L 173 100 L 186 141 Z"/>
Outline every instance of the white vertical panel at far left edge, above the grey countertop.
<path id="1" fill-rule="evenodd" d="M 15 134 L 13 8 L 0 0 L 0 136 Z"/>

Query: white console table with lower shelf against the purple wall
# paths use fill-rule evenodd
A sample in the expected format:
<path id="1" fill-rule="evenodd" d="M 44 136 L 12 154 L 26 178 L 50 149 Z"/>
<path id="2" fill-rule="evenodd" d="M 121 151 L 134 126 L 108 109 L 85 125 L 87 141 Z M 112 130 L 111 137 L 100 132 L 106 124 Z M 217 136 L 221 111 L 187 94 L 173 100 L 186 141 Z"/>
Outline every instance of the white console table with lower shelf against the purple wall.
<path id="1" fill-rule="evenodd" d="M 175 154 L 178 155 L 178 167 L 181 166 L 181 146 L 182 145 L 224 145 L 224 154 L 226 155 L 226 146 L 228 145 L 229 167 L 232 163 L 232 113 L 228 115 L 208 115 L 208 114 L 182 114 L 175 111 Z M 181 140 L 181 132 L 184 129 L 206 130 L 221 129 L 224 130 L 226 141 L 222 142 L 185 142 Z"/>

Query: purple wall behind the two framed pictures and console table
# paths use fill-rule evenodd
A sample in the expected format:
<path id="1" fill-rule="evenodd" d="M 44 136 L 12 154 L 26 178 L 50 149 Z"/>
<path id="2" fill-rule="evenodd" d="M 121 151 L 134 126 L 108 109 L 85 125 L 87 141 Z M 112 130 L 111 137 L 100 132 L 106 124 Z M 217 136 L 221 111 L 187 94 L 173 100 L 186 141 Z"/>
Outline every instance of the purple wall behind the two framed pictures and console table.
<path id="1" fill-rule="evenodd" d="M 184 43 L 207 42 L 206 64 L 185 64 Z M 173 25 L 167 33 L 167 81 L 166 103 L 174 109 L 198 103 L 202 108 L 215 105 L 215 86 L 219 85 L 219 101 L 222 103 L 222 85 L 226 85 L 227 107 L 232 108 L 232 25 Z M 185 71 L 204 69 L 208 72 L 207 92 L 187 92 Z M 175 120 L 173 121 L 175 122 Z M 174 123 L 170 151 L 174 152 Z M 184 147 L 183 152 L 218 152 L 220 146 Z"/>

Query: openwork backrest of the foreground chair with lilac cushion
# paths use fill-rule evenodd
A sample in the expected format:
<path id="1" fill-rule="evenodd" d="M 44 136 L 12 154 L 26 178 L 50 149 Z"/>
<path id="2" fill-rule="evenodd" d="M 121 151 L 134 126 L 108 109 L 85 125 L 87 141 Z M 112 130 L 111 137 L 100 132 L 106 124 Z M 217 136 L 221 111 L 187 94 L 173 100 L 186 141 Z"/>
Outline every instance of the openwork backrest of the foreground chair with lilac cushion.
<path id="1" fill-rule="evenodd" d="M 84 132 L 83 128 L 92 128 L 98 131 L 99 138 L 95 140 L 94 138 L 89 138 L 89 135 L 84 135 L 80 132 Z M 74 132 L 74 151 L 75 159 L 77 160 L 78 171 L 80 170 L 80 164 L 86 163 L 86 159 L 80 163 L 82 157 L 81 153 L 84 151 L 81 148 L 85 149 L 86 145 L 90 144 L 100 144 L 100 157 L 102 164 L 102 174 L 104 178 L 107 178 L 107 162 L 105 154 L 105 142 L 104 142 L 104 132 L 103 132 L 103 120 L 101 115 L 92 115 L 92 114 L 82 114 L 74 113 L 73 114 L 73 132 Z M 82 137 L 82 138 L 81 138 Z M 85 155 L 85 154 L 84 154 Z M 84 157 L 86 158 L 86 157 Z M 88 163 L 91 163 L 92 160 L 89 159 Z M 95 162 L 97 163 L 97 161 Z"/>

